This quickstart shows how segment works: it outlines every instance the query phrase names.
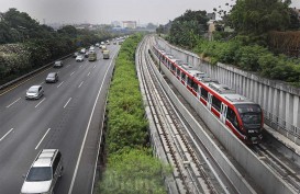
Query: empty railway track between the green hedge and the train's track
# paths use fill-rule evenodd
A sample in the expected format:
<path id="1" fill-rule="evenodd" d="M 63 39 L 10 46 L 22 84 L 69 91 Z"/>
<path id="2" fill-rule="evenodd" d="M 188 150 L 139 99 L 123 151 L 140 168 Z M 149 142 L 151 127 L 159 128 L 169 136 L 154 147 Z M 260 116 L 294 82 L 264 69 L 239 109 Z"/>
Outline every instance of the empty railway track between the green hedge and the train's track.
<path id="1" fill-rule="evenodd" d="M 167 160 L 174 168 L 173 176 L 178 193 L 226 193 L 215 185 L 211 172 L 207 172 L 205 161 L 197 155 L 196 146 L 187 138 L 188 126 L 185 124 L 153 72 L 146 43 L 138 50 L 138 64 L 143 84 L 147 93 L 151 112 L 158 130 Z M 222 190 L 222 189 L 221 189 Z"/>

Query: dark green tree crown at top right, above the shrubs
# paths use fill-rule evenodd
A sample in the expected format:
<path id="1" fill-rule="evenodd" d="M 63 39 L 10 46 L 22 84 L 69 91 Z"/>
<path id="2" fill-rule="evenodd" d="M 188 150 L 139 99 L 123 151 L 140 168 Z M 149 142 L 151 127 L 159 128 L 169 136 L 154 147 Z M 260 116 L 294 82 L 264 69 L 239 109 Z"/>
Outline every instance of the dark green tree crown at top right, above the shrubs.
<path id="1" fill-rule="evenodd" d="M 238 33 L 259 35 L 269 31 L 284 31 L 290 24 L 290 0 L 237 0 L 229 16 Z"/>

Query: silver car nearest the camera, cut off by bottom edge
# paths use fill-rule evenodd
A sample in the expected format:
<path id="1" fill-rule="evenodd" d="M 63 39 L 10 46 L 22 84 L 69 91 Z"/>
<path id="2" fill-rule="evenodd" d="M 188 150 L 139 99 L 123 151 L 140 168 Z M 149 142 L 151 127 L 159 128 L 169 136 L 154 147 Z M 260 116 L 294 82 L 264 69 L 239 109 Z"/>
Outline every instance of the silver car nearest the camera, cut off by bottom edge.
<path id="1" fill-rule="evenodd" d="M 52 194 L 63 170 L 63 157 L 58 149 L 41 150 L 24 175 L 21 194 Z"/>

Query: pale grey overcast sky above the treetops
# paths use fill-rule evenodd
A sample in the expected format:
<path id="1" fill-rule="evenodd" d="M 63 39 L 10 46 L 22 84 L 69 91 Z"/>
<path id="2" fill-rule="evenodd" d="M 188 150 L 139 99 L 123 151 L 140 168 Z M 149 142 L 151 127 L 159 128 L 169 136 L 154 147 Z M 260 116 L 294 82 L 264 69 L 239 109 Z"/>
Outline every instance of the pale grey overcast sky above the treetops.
<path id="1" fill-rule="evenodd" d="M 112 21 L 136 21 L 140 24 L 166 24 L 186 10 L 205 10 L 234 0 L 0 0 L 0 12 L 16 8 L 43 23 L 110 24 Z M 292 0 L 300 8 L 300 0 Z"/>

